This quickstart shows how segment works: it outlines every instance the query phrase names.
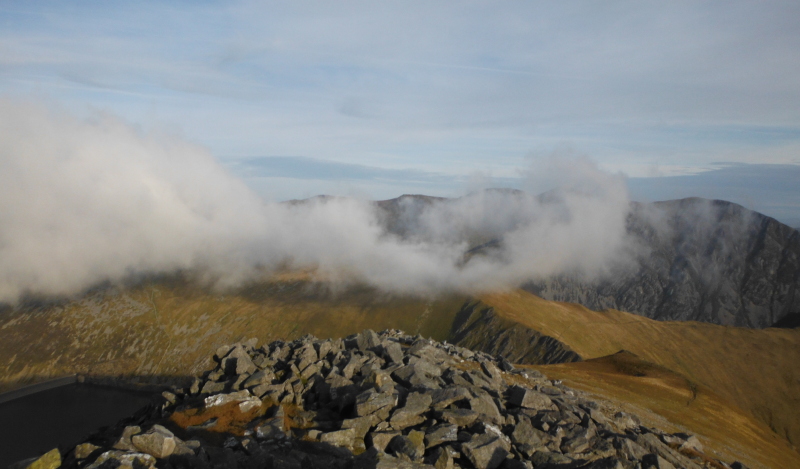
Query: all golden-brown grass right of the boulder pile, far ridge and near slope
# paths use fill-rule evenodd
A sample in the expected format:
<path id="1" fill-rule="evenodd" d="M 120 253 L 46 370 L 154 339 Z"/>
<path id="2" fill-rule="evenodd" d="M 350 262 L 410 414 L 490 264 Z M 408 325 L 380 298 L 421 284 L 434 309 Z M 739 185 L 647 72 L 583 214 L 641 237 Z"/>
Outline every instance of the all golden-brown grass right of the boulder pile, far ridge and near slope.
<path id="1" fill-rule="evenodd" d="M 773 436 L 790 443 L 800 441 L 800 330 L 660 322 L 620 311 L 597 312 L 546 301 L 524 291 L 483 295 L 481 300 L 502 317 L 555 337 L 584 358 L 628 350 L 650 363 L 646 373 L 653 373 L 654 365 L 664 373 L 676 373 L 669 379 L 668 374 L 651 379 L 635 376 L 636 367 L 643 364 L 617 363 L 617 367 L 632 366 L 634 371 L 610 372 L 607 363 L 587 362 L 548 368 L 545 373 L 551 377 L 585 389 L 594 387 L 622 400 L 644 399 L 646 404 L 652 396 L 650 408 L 661 409 L 662 415 L 679 419 L 687 427 L 691 423 L 691 428 L 703 431 L 717 426 L 745 429 L 741 438 L 731 441 L 752 439 L 756 446 L 772 441 Z M 700 392 L 695 403 L 686 406 L 692 386 Z M 709 389 L 714 390 L 713 397 L 709 397 Z M 675 405 L 667 405 L 669 402 Z M 695 412 L 694 408 L 703 410 Z M 797 453 L 792 451 L 790 456 L 796 458 Z"/>

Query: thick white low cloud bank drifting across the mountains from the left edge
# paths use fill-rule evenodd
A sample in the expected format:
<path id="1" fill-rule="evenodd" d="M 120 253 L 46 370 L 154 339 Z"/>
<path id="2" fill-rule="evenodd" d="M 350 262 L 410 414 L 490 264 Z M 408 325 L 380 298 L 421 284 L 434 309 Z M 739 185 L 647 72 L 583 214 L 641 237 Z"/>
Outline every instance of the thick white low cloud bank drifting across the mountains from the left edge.
<path id="1" fill-rule="evenodd" d="M 625 181 L 583 160 L 549 166 L 537 177 L 563 189 L 547 202 L 482 192 L 417 207 L 401 237 L 370 202 L 265 202 L 178 138 L 2 100 L 0 301 L 177 269 L 226 286 L 288 265 L 416 294 L 602 274 L 626 247 Z M 470 243 L 494 237 L 502 248 L 464 262 Z"/>

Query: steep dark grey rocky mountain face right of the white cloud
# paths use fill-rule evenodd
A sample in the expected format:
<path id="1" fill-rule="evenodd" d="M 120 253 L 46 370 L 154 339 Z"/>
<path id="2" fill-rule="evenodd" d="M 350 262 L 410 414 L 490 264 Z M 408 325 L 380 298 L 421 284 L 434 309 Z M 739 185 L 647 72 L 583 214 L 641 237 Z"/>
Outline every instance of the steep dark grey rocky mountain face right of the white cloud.
<path id="1" fill-rule="evenodd" d="M 633 204 L 633 268 L 525 288 L 549 300 L 669 321 L 764 328 L 800 311 L 800 232 L 719 200 Z"/>

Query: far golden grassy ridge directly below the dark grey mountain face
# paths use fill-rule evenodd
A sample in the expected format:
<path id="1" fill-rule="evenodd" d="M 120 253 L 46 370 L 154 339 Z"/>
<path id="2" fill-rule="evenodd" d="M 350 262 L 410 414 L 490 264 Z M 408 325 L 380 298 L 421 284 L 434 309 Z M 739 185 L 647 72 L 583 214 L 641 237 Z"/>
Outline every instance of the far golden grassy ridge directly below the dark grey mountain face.
<path id="1" fill-rule="evenodd" d="M 800 330 L 659 322 L 550 302 L 524 291 L 484 295 L 481 300 L 501 316 L 563 341 L 584 358 L 633 352 L 700 388 L 713 389 L 721 401 L 735 404 L 795 445 L 800 441 Z M 566 375 L 564 379 L 572 381 Z M 632 389 L 634 394 L 649 392 Z"/>

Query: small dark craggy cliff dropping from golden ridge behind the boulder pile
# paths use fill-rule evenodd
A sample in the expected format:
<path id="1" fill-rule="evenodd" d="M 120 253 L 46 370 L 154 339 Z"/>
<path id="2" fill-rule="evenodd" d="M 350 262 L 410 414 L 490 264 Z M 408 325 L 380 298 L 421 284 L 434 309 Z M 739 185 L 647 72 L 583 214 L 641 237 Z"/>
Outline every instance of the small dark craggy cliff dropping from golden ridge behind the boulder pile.
<path id="1" fill-rule="evenodd" d="M 581 361 L 581 356 L 568 345 L 503 319 L 479 301 L 464 304 L 453 321 L 449 340 L 512 363 L 548 365 Z"/>

